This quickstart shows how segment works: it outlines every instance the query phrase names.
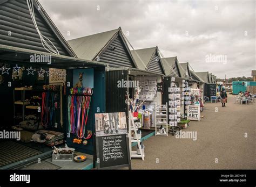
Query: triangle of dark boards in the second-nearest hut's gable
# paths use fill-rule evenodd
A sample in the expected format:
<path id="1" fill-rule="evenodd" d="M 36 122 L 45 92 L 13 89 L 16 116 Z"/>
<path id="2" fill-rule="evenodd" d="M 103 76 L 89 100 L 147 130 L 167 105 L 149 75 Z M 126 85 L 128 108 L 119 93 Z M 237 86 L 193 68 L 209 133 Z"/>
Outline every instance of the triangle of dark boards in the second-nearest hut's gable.
<path id="1" fill-rule="evenodd" d="M 134 68 L 131 56 L 119 35 L 100 56 L 100 62 L 109 63 L 110 66 Z"/>

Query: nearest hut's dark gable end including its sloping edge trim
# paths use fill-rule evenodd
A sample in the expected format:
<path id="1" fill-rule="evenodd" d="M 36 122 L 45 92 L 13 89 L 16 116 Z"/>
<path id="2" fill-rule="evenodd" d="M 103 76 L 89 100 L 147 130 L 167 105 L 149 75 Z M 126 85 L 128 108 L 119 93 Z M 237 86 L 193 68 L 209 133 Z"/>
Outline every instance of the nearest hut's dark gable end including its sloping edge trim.
<path id="1" fill-rule="evenodd" d="M 42 5 L 36 0 L 33 1 L 33 6 L 39 30 L 51 41 L 49 42 L 45 39 L 46 42 L 53 49 L 56 47 L 61 55 L 76 56 Z M 38 11 L 38 7 L 40 7 L 40 11 Z M 44 48 L 36 27 L 33 24 L 26 1 L 2 0 L 0 1 L 0 10 L 1 20 L 3 20 L 0 23 L 1 29 L 4 33 L 11 31 L 12 34 L 11 38 L 5 38 L 5 34 L 3 34 L 0 37 L 0 44 L 39 52 L 48 52 Z"/>

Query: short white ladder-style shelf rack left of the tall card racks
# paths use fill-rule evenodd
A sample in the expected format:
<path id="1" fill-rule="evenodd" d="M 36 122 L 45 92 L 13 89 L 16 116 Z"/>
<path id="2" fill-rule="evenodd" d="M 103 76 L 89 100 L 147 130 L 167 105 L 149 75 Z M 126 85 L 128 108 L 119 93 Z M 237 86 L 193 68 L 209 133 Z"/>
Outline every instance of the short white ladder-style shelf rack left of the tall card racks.
<path id="1" fill-rule="evenodd" d="M 157 105 L 155 106 L 155 128 L 156 128 L 156 136 L 168 136 L 168 111 L 167 111 L 167 103 L 165 105 Z"/>

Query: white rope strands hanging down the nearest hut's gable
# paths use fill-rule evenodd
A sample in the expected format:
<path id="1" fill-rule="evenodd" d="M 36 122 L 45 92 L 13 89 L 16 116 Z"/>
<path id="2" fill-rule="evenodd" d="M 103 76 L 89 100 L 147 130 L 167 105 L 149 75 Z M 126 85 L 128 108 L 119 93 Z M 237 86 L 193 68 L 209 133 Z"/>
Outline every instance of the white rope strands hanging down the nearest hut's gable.
<path id="1" fill-rule="evenodd" d="M 39 34 L 39 37 L 41 39 L 41 42 L 42 42 L 42 45 L 43 47 L 46 49 L 46 51 L 48 51 L 49 53 L 52 53 L 52 54 L 59 54 L 59 51 L 58 49 L 55 47 L 55 45 L 52 44 L 52 42 L 47 38 L 45 37 L 41 31 L 39 30 L 38 26 L 37 26 L 37 23 L 36 23 L 36 17 L 35 17 L 35 12 L 34 12 L 34 8 L 33 8 L 33 0 L 26 0 L 26 3 L 28 4 L 28 8 L 29 8 L 29 13 L 30 13 L 30 16 L 32 18 L 32 21 L 33 21 L 33 24 L 35 25 L 36 27 L 36 30 L 37 30 L 37 33 Z M 50 44 L 55 48 L 53 49 L 47 42 L 46 40 L 48 40 L 50 42 Z"/>

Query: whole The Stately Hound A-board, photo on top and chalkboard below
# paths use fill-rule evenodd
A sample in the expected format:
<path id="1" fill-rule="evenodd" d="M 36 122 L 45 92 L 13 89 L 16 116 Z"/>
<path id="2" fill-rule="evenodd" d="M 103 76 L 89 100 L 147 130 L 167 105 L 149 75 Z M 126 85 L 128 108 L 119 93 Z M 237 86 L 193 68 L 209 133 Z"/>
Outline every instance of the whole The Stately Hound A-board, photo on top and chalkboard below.
<path id="1" fill-rule="evenodd" d="M 98 169 L 131 168 L 125 112 L 96 113 Z"/>

